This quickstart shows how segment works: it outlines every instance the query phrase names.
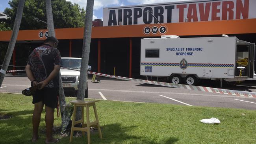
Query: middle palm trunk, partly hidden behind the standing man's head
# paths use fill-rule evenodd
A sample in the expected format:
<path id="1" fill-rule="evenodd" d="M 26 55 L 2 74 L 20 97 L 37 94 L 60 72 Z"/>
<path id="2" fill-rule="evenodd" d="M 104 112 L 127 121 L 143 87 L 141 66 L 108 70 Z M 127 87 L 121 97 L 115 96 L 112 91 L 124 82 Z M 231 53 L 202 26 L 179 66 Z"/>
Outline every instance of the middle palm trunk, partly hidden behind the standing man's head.
<path id="1" fill-rule="evenodd" d="M 45 2 L 46 2 L 45 6 L 46 6 L 46 15 L 47 15 L 47 28 L 49 31 L 49 36 L 55 37 L 54 21 L 52 16 L 52 2 L 51 0 L 46 0 Z M 60 106 L 60 112 L 61 112 L 61 133 L 65 133 L 65 132 L 68 132 L 66 131 L 66 129 L 67 129 L 67 126 L 69 125 L 73 108 L 70 103 L 66 103 L 60 71 L 59 71 L 59 106 Z"/>

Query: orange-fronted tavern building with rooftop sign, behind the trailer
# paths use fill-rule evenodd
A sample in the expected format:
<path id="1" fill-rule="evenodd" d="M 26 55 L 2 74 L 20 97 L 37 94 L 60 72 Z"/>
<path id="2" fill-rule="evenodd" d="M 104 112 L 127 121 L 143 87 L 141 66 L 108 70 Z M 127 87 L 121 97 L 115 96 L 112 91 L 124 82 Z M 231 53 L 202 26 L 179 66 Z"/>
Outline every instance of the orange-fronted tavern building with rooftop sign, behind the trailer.
<path id="1" fill-rule="evenodd" d="M 194 0 L 104 8 L 103 26 L 92 28 L 89 65 L 94 72 L 113 75 L 115 68 L 117 76 L 137 78 L 141 39 L 161 35 L 226 34 L 256 42 L 255 7 L 256 0 Z M 84 28 L 55 29 L 62 57 L 82 56 L 83 31 Z M 47 30 L 19 31 L 13 65 L 26 65 L 30 52 L 47 36 Z M 0 31 L 0 42 L 9 42 L 10 37 L 11 31 Z M 24 49 L 22 45 L 31 48 Z M 21 59 L 24 62 L 19 63 Z"/>

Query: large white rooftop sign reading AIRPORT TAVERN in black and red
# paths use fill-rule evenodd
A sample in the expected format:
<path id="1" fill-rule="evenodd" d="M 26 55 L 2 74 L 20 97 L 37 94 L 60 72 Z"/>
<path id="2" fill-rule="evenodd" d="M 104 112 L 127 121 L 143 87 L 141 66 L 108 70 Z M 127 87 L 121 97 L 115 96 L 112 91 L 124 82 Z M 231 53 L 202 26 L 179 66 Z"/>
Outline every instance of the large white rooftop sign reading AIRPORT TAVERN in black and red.
<path id="1" fill-rule="evenodd" d="M 103 26 L 256 18 L 256 0 L 193 0 L 103 9 Z"/>

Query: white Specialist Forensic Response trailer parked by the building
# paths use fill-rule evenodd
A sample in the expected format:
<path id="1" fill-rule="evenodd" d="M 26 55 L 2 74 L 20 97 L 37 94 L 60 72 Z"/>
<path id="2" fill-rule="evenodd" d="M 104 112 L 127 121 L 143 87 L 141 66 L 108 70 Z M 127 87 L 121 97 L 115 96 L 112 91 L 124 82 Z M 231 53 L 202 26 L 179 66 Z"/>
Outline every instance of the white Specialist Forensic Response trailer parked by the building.
<path id="1" fill-rule="evenodd" d="M 236 37 L 141 39 L 141 76 L 195 85 L 198 79 L 256 80 L 255 44 Z"/>

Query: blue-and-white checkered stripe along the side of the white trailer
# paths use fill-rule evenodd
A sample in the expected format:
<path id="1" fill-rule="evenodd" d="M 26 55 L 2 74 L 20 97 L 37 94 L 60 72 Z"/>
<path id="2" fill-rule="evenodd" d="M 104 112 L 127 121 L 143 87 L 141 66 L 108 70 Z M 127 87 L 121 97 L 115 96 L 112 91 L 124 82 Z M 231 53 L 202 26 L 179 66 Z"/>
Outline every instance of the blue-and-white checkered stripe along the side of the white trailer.
<path id="1" fill-rule="evenodd" d="M 142 66 L 180 66 L 180 63 L 141 63 Z M 234 64 L 188 63 L 195 67 L 234 67 Z"/>

